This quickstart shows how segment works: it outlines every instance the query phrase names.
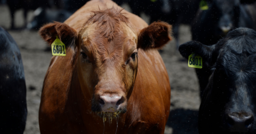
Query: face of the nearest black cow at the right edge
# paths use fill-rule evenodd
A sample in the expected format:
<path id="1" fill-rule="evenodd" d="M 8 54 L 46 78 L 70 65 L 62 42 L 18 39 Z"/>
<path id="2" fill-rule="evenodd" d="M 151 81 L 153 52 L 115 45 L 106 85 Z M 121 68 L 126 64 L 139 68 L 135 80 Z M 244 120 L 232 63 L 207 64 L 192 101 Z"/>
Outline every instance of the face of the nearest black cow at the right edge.
<path id="1" fill-rule="evenodd" d="M 238 40 L 229 41 L 222 47 L 215 69 L 213 68 L 210 81 L 212 96 L 218 98 L 212 99 L 215 102 L 213 105 L 220 108 L 217 113 L 221 119 L 218 122 L 223 131 L 255 133 L 256 55 L 254 52 L 246 52 L 246 46 L 236 46 L 233 41 Z"/>

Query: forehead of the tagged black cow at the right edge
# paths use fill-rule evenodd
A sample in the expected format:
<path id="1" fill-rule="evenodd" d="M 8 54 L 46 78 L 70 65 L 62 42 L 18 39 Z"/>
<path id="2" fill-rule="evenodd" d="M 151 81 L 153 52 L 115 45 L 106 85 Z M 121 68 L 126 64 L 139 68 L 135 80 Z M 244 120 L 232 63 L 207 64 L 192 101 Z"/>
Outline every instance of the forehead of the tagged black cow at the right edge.
<path id="1" fill-rule="evenodd" d="M 216 67 L 231 73 L 254 70 L 252 65 L 256 65 L 255 37 L 256 32 L 251 29 L 239 28 L 231 31 L 217 43 L 219 54 Z"/>

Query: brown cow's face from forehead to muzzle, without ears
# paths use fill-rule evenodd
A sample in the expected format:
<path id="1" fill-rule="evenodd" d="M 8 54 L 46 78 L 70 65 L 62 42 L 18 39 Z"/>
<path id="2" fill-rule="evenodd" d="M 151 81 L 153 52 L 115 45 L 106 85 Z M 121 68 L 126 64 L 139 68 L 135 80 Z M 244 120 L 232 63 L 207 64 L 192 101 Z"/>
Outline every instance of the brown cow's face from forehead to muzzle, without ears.
<path id="1" fill-rule="evenodd" d="M 94 112 L 124 113 L 137 74 L 138 32 L 125 22 L 113 25 L 89 20 L 79 32 L 78 75 Z"/>

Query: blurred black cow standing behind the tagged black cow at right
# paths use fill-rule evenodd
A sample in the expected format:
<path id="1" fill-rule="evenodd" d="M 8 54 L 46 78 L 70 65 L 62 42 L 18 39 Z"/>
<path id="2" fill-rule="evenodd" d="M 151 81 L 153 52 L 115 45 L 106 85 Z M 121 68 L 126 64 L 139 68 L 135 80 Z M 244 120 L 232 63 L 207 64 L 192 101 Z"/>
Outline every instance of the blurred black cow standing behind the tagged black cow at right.
<path id="1" fill-rule="evenodd" d="M 251 2 L 243 1 L 243 3 Z M 201 11 L 191 26 L 192 39 L 205 45 L 212 45 L 216 44 L 232 29 L 246 27 L 255 30 L 256 13 L 250 12 L 250 10 L 255 9 L 256 6 L 251 6 L 253 8 L 242 5 L 239 0 L 209 0 L 209 10 Z M 202 98 L 202 91 L 205 89 L 211 74 L 210 68 L 196 69 L 196 73 Z"/>

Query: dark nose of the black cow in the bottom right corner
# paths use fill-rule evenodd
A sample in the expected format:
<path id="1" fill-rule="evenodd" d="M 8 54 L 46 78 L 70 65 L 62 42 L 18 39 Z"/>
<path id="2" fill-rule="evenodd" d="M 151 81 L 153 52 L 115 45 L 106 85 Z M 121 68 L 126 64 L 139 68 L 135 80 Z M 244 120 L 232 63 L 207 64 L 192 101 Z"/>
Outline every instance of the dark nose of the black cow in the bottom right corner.
<path id="1" fill-rule="evenodd" d="M 228 114 L 228 124 L 230 131 L 233 132 L 247 132 L 253 120 L 254 118 L 251 114 Z"/>

